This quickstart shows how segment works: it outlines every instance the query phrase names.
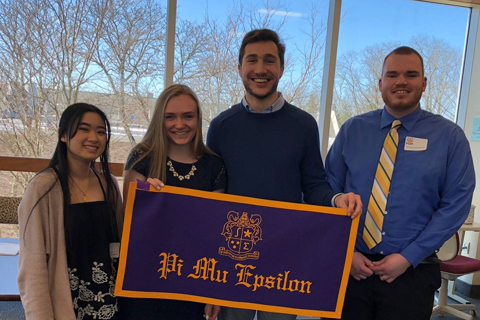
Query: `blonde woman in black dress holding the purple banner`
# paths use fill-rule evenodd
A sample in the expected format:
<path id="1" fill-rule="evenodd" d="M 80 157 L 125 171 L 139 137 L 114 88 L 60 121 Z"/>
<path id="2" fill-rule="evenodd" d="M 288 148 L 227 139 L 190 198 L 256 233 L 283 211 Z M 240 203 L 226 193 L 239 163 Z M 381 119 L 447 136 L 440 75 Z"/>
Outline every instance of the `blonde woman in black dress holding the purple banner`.
<path id="1" fill-rule="evenodd" d="M 145 136 L 128 155 L 123 172 L 123 198 L 128 181 L 223 192 L 226 172 L 223 161 L 204 143 L 201 109 L 195 93 L 186 85 L 167 87 L 156 100 Z M 216 318 L 219 307 L 190 301 L 124 298 L 123 319 Z"/>

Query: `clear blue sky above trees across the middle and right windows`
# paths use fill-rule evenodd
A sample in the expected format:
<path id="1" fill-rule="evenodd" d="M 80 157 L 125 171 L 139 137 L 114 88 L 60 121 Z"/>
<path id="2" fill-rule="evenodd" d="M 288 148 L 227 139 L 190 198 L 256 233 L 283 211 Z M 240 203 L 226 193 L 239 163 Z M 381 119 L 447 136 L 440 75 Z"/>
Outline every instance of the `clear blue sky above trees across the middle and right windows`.
<path id="1" fill-rule="evenodd" d="M 183 18 L 201 20 L 208 3 L 210 16 L 221 20 L 233 0 L 177 0 L 177 14 Z M 259 1 L 243 0 L 258 10 Z M 300 29 L 306 29 L 305 17 L 310 1 L 285 1 L 289 16 L 286 36 L 297 44 L 304 40 Z M 318 1 L 320 15 L 326 19 L 328 1 Z M 412 35 L 427 34 L 442 38 L 452 46 L 463 48 L 469 9 L 415 0 L 342 0 L 342 19 L 338 39 L 338 55 L 347 50 L 360 50 L 382 41 L 407 42 Z M 278 18 L 282 18 L 278 14 Z M 287 41 L 288 48 L 292 41 Z"/>

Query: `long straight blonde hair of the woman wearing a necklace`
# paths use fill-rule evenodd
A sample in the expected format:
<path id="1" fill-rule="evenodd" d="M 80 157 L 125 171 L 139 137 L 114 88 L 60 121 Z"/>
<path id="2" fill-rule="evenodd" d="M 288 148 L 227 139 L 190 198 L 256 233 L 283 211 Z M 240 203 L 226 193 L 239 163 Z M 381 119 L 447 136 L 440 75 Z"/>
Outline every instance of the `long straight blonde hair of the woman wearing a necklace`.
<path id="1" fill-rule="evenodd" d="M 133 165 L 139 162 L 141 159 L 150 155 L 151 162 L 148 170 L 148 177 L 158 178 L 161 181 L 166 179 L 166 157 L 168 154 L 168 145 L 170 140 L 168 139 L 164 121 L 165 121 L 165 107 L 168 101 L 181 94 L 187 94 L 196 103 L 196 110 L 198 115 L 198 124 L 196 126 L 195 136 L 193 138 L 193 154 L 195 158 L 199 158 L 203 153 L 213 153 L 203 143 L 202 130 L 201 130 L 201 108 L 198 103 L 196 94 L 188 86 L 184 84 L 172 84 L 165 88 L 160 96 L 156 99 L 155 109 L 151 117 L 148 128 L 146 129 L 143 139 L 134 147 L 141 150 L 141 155 L 136 159 L 131 166 L 125 169 L 130 170 Z"/>

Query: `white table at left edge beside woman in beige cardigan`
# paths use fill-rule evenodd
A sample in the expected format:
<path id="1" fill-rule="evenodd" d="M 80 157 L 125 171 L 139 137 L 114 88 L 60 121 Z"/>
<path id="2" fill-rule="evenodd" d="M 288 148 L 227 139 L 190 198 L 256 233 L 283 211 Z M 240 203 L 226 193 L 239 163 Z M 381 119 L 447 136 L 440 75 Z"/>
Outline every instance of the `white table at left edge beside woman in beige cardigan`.
<path id="1" fill-rule="evenodd" d="M 18 239 L 0 238 L 0 242 L 18 243 Z M 0 301 L 20 301 L 17 276 L 18 254 L 0 255 Z"/>

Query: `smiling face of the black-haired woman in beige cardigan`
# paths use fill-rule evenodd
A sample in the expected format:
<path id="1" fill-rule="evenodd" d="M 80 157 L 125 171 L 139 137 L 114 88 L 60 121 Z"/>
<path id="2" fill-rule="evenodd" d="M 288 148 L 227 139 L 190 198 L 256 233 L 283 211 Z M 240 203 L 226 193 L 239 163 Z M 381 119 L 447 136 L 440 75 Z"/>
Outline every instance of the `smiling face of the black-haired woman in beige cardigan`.
<path id="1" fill-rule="evenodd" d="M 68 139 L 66 134 L 60 140 L 67 145 L 67 158 L 70 160 L 91 162 L 105 149 L 105 123 L 98 113 L 83 113 L 75 134 Z"/>

